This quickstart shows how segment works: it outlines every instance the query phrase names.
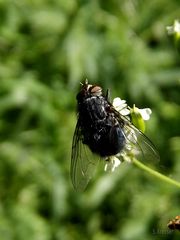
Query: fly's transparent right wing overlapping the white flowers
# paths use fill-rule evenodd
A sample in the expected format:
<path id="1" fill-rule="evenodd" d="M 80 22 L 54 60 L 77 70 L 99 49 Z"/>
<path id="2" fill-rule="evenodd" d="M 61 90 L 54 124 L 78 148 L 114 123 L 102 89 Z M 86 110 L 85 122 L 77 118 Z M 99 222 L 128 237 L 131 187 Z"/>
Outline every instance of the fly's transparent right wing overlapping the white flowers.
<path id="1" fill-rule="evenodd" d="M 126 138 L 125 150 L 129 152 L 131 156 L 134 155 L 141 161 L 145 160 L 149 163 L 159 161 L 159 153 L 151 140 L 126 118 L 123 120 L 121 116 L 121 121 L 124 121 L 123 130 Z"/>

